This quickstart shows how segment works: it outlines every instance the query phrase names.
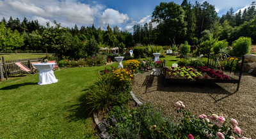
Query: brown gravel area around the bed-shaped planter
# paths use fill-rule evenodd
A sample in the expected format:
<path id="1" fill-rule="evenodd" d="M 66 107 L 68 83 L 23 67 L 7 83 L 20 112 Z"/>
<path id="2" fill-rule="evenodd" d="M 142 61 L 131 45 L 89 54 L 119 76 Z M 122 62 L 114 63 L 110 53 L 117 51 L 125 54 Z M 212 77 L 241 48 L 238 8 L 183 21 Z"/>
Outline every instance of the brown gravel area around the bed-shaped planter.
<path id="1" fill-rule="evenodd" d="M 236 75 L 225 73 L 229 77 Z M 237 84 L 232 83 L 173 83 L 164 87 L 161 77 L 150 75 L 150 72 L 136 75 L 132 92 L 142 102 L 150 101 L 162 110 L 164 115 L 179 119 L 174 103 L 182 101 L 192 115 L 212 113 L 227 115 L 236 119 L 242 135 L 256 138 L 256 78 L 243 73 L 239 91 Z"/>

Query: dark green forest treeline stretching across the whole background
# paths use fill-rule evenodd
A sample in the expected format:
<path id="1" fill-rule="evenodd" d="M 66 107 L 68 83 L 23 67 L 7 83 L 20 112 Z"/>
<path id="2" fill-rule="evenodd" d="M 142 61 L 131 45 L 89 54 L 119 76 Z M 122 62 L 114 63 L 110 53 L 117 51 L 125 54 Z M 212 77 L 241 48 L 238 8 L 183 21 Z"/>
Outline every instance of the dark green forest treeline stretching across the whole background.
<path id="1" fill-rule="evenodd" d="M 255 43 L 255 15 L 255 2 L 237 13 L 230 8 L 222 17 L 218 17 L 214 5 L 207 1 L 204 3 L 196 1 L 195 4 L 192 4 L 184 0 L 180 5 L 173 2 L 160 3 L 154 8 L 151 22 L 134 25 L 132 27 L 133 34 L 120 31 L 118 26 L 113 26 L 113 28 L 108 26 L 104 31 L 94 25 L 81 26 L 80 29 L 77 25 L 71 28 L 61 27 L 54 21 L 55 27 L 49 26 L 49 23 L 45 27 L 41 26 L 38 20 L 28 21 L 24 17 L 20 21 L 19 18 L 10 17 L 8 21 L 5 18 L 1 20 L 0 31 L 5 34 L 5 38 L 4 36 L 0 37 L 0 49 L 42 50 L 47 48 L 49 51 L 64 54 L 74 48 L 97 46 L 119 47 L 122 51 L 125 47 L 134 47 L 135 43 L 148 45 L 152 42 L 156 45 L 172 45 L 188 41 L 189 45 L 198 45 L 205 39 L 205 36 L 206 38 L 212 36 L 219 40 L 227 40 L 229 44 L 240 36 L 245 36 L 252 38 Z M 157 26 L 153 27 L 152 22 L 156 22 Z M 71 43 L 74 43 L 72 44 L 75 45 L 74 48 L 68 46 Z M 76 47 L 77 44 L 81 46 Z M 61 48 L 67 50 L 60 50 Z M 90 48 L 84 50 L 89 51 L 88 49 Z"/>

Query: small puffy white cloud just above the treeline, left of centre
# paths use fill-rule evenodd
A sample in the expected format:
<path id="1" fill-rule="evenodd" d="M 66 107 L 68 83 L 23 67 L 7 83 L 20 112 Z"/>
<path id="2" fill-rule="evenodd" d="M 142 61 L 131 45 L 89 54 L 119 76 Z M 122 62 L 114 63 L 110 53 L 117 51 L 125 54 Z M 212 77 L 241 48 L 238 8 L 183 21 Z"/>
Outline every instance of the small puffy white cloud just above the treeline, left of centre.
<path id="1" fill-rule="evenodd" d="M 119 13 L 119 11 L 113 9 L 106 9 L 102 16 L 100 17 L 100 26 L 106 26 L 106 24 L 115 25 L 115 24 L 124 24 L 129 20 L 127 14 Z"/>

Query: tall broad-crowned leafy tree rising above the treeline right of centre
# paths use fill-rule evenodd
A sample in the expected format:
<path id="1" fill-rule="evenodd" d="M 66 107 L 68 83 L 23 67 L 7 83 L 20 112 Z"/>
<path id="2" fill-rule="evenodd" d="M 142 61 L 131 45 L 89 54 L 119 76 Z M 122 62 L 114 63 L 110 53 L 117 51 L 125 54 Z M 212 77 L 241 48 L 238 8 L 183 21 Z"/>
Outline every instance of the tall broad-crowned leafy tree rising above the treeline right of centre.
<path id="1" fill-rule="evenodd" d="M 157 22 L 163 27 L 159 27 L 163 29 L 161 31 L 163 43 L 168 43 L 170 41 L 168 38 L 175 38 L 179 42 L 186 36 L 187 22 L 184 18 L 185 12 L 179 4 L 160 3 L 154 8 L 152 22 Z"/>

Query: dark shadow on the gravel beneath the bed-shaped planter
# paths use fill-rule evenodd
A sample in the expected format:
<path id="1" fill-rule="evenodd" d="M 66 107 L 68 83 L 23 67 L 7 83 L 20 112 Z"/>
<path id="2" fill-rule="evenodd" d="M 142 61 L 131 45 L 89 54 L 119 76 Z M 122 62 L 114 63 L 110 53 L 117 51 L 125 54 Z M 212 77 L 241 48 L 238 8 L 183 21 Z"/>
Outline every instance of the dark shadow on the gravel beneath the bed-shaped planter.
<path id="1" fill-rule="evenodd" d="M 221 101 L 228 96 L 236 94 L 237 91 L 227 91 L 225 88 L 221 87 L 216 83 L 186 83 L 186 82 L 172 82 L 167 83 L 164 87 L 163 77 L 157 77 L 157 91 L 164 92 L 195 92 L 209 94 L 209 96 L 214 99 L 214 102 Z M 220 83 L 221 84 L 221 83 Z M 228 83 L 226 83 L 228 84 Z M 235 87 L 236 88 L 236 87 Z"/>

